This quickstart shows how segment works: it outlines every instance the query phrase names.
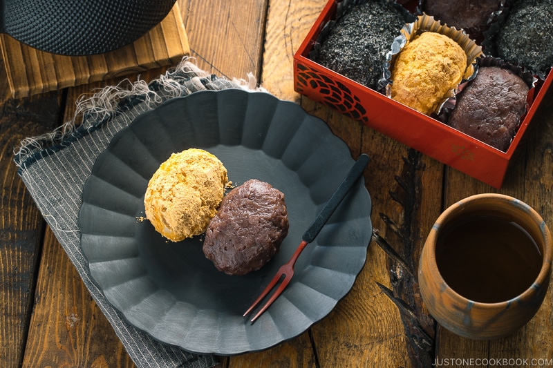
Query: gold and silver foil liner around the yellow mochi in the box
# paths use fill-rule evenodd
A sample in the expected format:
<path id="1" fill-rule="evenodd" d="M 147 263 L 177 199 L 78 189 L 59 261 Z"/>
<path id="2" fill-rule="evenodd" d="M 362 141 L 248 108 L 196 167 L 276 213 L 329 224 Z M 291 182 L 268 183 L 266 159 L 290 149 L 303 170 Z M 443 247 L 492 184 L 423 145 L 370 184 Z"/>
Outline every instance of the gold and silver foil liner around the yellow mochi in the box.
<path id="1" fill-rule="evenodd" d="M 440 23 L 440 21 L 436 21 L 431 15 L 422 14 L 418 16 L 416 21 L 408 23 L 402 28 L 401 35 L 395 38 L 390 51 L 386 55 L 386 62 L 383 66 L 383 78 L 379 83 L 384 87 L 384 94 L 387 97 L 391 97 L 391 85 L 393 83 L 390 79 L 392 75 L 391 70 L 397 55 L 400 54 L 409 41 L 415 39 L 418 35 L 422 34 L 422 32 L 440 33 L 441 35 L 447 36 L 450 39 L 453 39 L 453 41 L 456 41 L 459 46 L 465 50 L 467 55 L 467 68 L 465 69 L 462 79 L 468 80 L 472 75 L 474 75 L 476 58 L 483 55 L 482 46 L 478 45 L 474 39 L 471 39 L 465 31 L 458 30 L 455 27 L 448 27 Z M 432 115 L 438 114 L 444 102 L 453 97 L 456 92 L 457 88 L 453 88 L 449 91 L 449 93 L 444 95 L 442 102 L 438 105 L 438 109 Z"/>

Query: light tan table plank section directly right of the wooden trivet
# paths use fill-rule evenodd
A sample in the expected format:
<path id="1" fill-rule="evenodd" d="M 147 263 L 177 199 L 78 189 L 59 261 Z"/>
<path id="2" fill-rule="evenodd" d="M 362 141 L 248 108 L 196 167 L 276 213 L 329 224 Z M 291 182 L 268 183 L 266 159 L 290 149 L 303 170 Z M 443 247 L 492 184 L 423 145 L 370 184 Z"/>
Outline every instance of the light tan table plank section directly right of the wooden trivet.
<path id="1" fill-rule="evenodd" d="M 178 0 L 196 65 L 228 79 L 259 80 L 267 0 Z"/>

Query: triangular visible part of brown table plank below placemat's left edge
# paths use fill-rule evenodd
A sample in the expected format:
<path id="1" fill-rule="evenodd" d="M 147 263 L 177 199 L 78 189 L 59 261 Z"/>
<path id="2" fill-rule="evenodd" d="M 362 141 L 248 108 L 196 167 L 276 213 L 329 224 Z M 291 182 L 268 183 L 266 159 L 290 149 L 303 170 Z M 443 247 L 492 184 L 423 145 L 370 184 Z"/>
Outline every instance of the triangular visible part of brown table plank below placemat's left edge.
<path id="1" fill-rule="evenodd" d="M 48 228 L 23 367 L 135 367 Z"/>

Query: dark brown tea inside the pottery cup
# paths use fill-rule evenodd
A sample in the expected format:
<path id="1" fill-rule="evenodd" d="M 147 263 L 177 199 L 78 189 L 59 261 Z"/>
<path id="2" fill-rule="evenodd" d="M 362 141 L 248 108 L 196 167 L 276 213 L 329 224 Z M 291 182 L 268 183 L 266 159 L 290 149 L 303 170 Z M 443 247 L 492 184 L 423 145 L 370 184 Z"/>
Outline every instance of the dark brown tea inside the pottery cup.
<path id="1" fill-rule="evenodd" d="M 538 245 L 516 222 L 496 215 L 474 215 L 443 229 L 436 263 L 444 281 L 475 302 L 511 300 L 538 277 Z"/>

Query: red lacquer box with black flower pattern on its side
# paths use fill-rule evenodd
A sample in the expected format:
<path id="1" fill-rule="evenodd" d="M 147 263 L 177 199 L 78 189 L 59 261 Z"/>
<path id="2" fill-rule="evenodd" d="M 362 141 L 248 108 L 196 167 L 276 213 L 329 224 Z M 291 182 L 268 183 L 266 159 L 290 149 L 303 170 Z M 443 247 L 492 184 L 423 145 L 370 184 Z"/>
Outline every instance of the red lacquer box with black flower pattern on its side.
<path id="1" fill-rule="evenodd" d="M 309 59 L 323 27 L 336 19 L 337 3 L 337 0 L 328 1 L 294 55 L 294 90 L 462 173 L 500 188 L 509 162 L 521 146 L 525 131 L 532 124 L 532 116 L 553 81 L 553 72 L 543 84 L 534 88 L 534 101 L 507 152 L 499 151 Z"/>

